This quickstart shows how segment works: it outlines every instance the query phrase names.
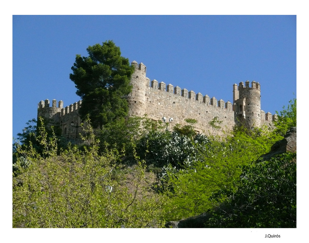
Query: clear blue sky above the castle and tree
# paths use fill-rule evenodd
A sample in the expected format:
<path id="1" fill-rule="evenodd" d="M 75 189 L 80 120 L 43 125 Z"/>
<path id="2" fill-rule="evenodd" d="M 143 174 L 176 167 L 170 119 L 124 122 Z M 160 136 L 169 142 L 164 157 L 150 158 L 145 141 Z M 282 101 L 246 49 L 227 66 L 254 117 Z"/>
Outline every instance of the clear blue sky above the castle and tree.
<path id="1" fill-rule="evenodd" d="M 105 40 L 143 62 L 150 80 L 225 102 L 234 83 L 255 80 L 272 114 L 296 98 L 296 15 L 14 15 L 13 137 L 40 100 L 80 99 L 69 78 L 75 55 Z"/>

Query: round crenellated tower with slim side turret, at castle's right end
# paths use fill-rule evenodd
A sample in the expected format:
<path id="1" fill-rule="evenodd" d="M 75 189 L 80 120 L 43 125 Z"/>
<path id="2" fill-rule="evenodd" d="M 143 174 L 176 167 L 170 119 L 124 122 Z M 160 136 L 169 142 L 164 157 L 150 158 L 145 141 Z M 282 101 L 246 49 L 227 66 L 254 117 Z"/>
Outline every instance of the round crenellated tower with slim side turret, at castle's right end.
<path id="1" fill-rule="evenodd" d="M 249 87 L 249 81 L 239 83 L 238 90 L 233 85 L 233 98 L 235 99 L 235 117 L 238 121 L 250 129 L 261 125 L 261 90 L 260 84 L 252 81 Z M 238 97 L 237 97 L 238 96 Z"/>

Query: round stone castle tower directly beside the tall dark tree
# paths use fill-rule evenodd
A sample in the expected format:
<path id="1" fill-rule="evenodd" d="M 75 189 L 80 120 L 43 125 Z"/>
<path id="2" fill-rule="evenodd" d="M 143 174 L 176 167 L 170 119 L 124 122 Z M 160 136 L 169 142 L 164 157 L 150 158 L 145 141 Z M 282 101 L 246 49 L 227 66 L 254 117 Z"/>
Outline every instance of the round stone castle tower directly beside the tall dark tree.
<path id="1" fill-rule="evenodd" d="M 149 79 L 146 78 L 146 66 L 136 61 L 131 63 L 135 67 L 131 76 L 130 84 L 133 86 L 132 92 L 126 98 L 129 103 L 129 116 L 143 116 L 146 106 L 146 89 L 149 87 Z"/>

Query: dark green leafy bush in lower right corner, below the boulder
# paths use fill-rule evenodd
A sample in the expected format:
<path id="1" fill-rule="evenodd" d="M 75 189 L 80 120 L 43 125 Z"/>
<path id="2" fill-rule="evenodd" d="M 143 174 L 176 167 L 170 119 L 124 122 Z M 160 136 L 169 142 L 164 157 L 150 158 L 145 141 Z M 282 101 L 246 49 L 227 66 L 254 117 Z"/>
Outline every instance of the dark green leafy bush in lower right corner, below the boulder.
<path id="1" fill-rule="evenodd" d="M 296 153 L 243 167 L 236 190 L 213 194 L 217 210 L 206 227 L 295 228 Z"/>

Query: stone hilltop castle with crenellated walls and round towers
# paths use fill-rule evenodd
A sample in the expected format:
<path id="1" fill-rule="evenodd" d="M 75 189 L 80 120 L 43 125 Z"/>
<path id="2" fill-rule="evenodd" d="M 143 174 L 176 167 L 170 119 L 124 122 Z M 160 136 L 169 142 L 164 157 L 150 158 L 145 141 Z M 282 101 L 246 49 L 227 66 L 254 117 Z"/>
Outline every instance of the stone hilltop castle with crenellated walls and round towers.
<path id="1" fill-rule="evenodd" d="M 243 124 L 248 129 L 267 125 L 272 127 L 277 115 L 266 113 L 260 108 L 260 84 L 249 81 L 245 84 L 233 85 L 233 103 L 223 100 L 217 101 L 215 97 L 203 96 L 200 92 L 181 89 L 164 82 L 158 83 L 146 77 L 146 66 L 136 61 L 131 63 L 135 71 L 131 77 L 133 86 L 132 92 L 125 96 L 129 104 L 129 116 L 144 116 L 152 120 L 168 123 L 168 128 L 177 123 L 187 124 L 186 118 L 197 120 L 195 130 L 198 133 L 224 135 L 224 132 L 232 130 L 233 126 Z M 75 102 L 63 108 L 63 101 L 49 100 L 40 101 L 38 104 L 38 117 L 48 119 L 49 124 L 59 126 L 62 135 L 69 139 L 75 139 L 82 132 L 79 126 L 81 119 L 78 116 L 78 109 L 82 101 Z M 218 129 L 213 129 L 209 122 L 214 118 L 220 123 Z"/>

